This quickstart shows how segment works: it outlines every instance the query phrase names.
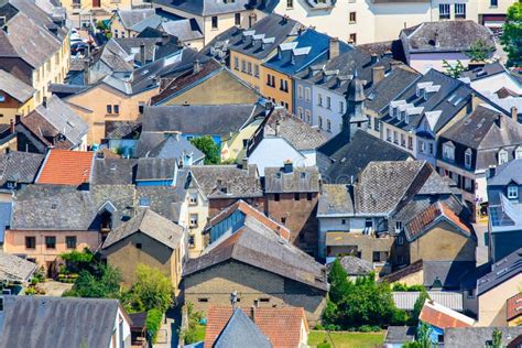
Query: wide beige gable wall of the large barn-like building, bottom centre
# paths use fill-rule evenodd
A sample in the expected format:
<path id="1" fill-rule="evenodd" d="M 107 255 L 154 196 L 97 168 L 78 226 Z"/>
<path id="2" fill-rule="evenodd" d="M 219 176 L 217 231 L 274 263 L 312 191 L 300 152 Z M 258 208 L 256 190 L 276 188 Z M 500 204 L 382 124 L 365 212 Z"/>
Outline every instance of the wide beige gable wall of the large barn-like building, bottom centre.
<path id="1" fill-rule="evenodd" d="M 183 289 L 185 302 L 193 303 L 195 311 L 207 312 L 210 306 L 230 305 L 230 294 L 237 291 L 241 307 L 248 308 L 254 301 L 261 307 L 304 307 L 312 325 L 318 323 L 326 305 L 324 291 L 236 261 L 185 276 Z"/>

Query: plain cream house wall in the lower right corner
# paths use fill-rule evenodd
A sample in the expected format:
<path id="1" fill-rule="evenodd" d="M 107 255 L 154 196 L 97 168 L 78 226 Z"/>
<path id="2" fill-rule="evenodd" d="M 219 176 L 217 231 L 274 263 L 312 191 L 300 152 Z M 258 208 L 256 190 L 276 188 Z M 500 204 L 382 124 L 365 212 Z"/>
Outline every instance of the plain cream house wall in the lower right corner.
<path id="1" fill-rule="evenodd" d="M 478 322 L 476 326 L 508 326 L 507 301 L 520 292 L 522 274 L 513 276 L 478 297 Z"/>

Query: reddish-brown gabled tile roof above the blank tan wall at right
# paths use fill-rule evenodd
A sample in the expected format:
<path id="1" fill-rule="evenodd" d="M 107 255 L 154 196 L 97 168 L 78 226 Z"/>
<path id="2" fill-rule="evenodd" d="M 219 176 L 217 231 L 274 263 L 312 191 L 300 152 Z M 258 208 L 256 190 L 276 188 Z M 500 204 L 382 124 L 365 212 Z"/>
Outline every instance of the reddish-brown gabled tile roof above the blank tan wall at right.
<path id="1" fill-rule="evenodd" d="M 412 241 L 416 239 L 441 219 L 447 220 L 467 236 L 472 235 L 470 227 L 468 227 L 455 211 L 446 204 L 437 202 L 406 224 L 405 231 L 407 240 Z"/>

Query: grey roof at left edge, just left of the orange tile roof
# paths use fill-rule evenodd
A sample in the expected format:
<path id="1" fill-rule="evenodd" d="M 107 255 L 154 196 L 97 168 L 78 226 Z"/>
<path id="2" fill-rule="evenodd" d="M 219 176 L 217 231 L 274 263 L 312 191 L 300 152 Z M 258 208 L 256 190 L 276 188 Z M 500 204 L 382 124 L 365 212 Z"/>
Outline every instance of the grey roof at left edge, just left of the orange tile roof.
<path id="1" fill-rule="evenodd" d="M 40 153 L 19 151 L 0 154 L 0 185 L 6 182 L 33 183 L 44 157 Z"/>

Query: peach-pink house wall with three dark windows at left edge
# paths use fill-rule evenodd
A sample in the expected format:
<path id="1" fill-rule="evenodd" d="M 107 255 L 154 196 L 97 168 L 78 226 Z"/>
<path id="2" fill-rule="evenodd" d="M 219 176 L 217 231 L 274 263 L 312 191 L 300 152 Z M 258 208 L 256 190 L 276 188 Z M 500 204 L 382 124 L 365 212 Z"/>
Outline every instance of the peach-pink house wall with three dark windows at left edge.
<path id="1" fill-rule="evenodd" d="M 76 249 L 78 251 L 89 248 L 96 250 L 100 242 L 100 235 L 98 231 L 34 231 L 34 230 L 7 230 L 3 243 L 3 250 L 9 253 L 26 254 L 28 259 L 34 259 L 39 265 L 47 269 L 47 262 L 56 261 L 57 257 L 63 252 L 69 252 L 73 249 L 67 249 L 65 237 L 76 237 Z M 36 238 L 36 248 L 25 248 L 25 237 Z M 56 237 L 56 248 L 45 248 L 45 237 Z"/>

